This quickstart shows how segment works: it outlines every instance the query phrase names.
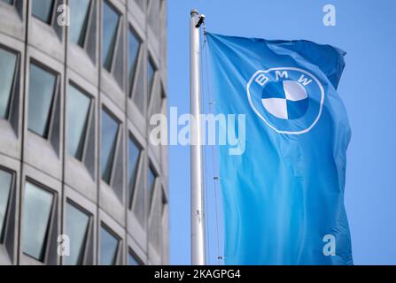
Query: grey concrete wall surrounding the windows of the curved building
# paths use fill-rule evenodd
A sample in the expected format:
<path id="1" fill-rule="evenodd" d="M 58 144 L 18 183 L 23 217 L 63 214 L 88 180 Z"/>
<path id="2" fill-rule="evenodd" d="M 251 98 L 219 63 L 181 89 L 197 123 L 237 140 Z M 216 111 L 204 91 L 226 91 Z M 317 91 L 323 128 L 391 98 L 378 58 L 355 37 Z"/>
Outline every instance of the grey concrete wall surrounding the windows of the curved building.
<path id="1" fill-rule="evenodd" d="M 89 256 L 85 264 L 97 264 L 100 256 L 98 233 L 105 225 L 120 238 L 118 264 L 128 264 L 128 252 L 143 264 L 168 264 L 168 173 L 167 148 L 153 147 L 148 142 L 149 114 L 153 99 L 159 99 L 160 111 L 167 114 L 167 51 L 165 0 L 108 0 L 120 12 L 121 22 L 111 72 L 101 64 L 102 0 L 92 4 L 89 11 L 87 42 L 82 49 L 67 41 L 67 27 L 58 27 L 57 12 L 53 11 L 50 25 L 31 15 L 28 0 L 15 0 L 8 5 L 0 2 L 0 47 L 18 52 L 18 71 L 12 93 L 12 114 L 0 119 L 0 168 L 14 174 L 12 199 L 9 201 L 5 233 L 0 244 L 0 264 L 61 264 L 57 255 L 57 236 L 64 233 L 66 202 L 73 202 L 92 218 L 89 226 Z M 57 4 L 65 0 L 57 0 Z M 142 40 L 140 60 L 143 77 L 144 109 L 139 109 L 129 97 L 128 28 Z M 147 87 L 147 58 L 152 58 L 157 72 L 152 93 L 159 98 L 149 101 Z M 44 139 L 27 129 L 29 63 L 34 60 L 58 74 L 56 101 L 50 120 L 50 136 Z M 66 153 L 66 89 L 72 82 L 82 88 L 93 102 L 89 112 L 88 145 L 83 162 Z M 134 90 L 137 91 L 137 90 Z M 101 111 L 105 108 L 120 121 L 120 132 L 113 164 L 111 184 L 101 179 Z M 143 154 L 138 172 L 142 175 L 136 189 L 144 194 L 144 225 L 136 218 L 134 208 L 128 206 L 128 136 L 132 135 L 142 146 Z M 153 203 L 148 195 L 149 164 L 157 172 Z M 50 221 L 47 254 L 44 263 L 24 255 L 20 239 L 23 215 L 24 187 L 34 181 L 56 195 Z M 158 205 L 159 207 L 156 207 Z M 164 209 L 162 209 L 164 207 Z M 160 218 L 158 211 L 160 210 Z M 152 228 L 154 227 L 154 228 Z M 157 228 L 159 230 L 157 230 Z M 160 244 L 152 233 L 160 233 Z M 91 258 L 91 259 L 90 259 Z"/>

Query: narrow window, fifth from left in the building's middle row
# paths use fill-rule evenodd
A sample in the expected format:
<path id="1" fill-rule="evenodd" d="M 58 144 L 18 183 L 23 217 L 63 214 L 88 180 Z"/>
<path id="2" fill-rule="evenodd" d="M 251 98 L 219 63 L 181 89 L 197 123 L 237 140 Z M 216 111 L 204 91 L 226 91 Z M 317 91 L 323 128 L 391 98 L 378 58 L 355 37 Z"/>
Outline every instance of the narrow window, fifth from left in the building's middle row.
<path id="1" fill-rule="evenodd" d="M 140 159 L 141 148 L 135 142 L 135 139 L 129 136 L 128 139 L 128 188 L 129 188 L 129 207 L 132 206 L 136 186 L 136 174 Z"/>

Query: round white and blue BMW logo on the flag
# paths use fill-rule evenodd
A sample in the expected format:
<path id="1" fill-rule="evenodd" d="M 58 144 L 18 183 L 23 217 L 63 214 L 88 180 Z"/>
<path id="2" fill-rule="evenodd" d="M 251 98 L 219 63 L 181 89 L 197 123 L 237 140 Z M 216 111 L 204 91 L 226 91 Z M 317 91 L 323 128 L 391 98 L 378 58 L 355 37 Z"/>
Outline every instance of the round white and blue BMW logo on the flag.
<path id="1" fill-rule="evenodd" d="M 322 84 L 299 68 L 254 73 L 247 84 L 247 96 L 260 119 L 281 134 L 307 133 L 322 115 Z"/>

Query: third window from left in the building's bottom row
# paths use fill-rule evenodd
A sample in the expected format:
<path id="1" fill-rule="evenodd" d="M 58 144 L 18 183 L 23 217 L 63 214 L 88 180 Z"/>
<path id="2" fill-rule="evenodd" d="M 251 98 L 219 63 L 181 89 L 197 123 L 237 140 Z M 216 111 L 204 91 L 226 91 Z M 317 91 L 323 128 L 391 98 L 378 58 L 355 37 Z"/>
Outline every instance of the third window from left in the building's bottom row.
<path id="1" fill-rule="evenodd" d="M 89 220 L 87 213 L 77 209 L 71 203 L 66 203 L 66 235 L 70 239 L 70 256 L 63 257 L 64 264 L 83 264 Z"/>

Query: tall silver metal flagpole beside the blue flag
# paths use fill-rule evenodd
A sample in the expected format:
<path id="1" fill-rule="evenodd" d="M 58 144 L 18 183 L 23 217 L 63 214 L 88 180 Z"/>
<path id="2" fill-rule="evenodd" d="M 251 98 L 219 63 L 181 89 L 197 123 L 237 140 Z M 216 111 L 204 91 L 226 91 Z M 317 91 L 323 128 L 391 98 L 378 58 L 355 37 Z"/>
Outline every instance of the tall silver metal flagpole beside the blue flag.
<path id="1" fill-rule="evenodd" d="M 205 265 L 204 190 L 199 103 L 199 27 L 204 22 L 205 16 L 198 15 L 197 10 L 192 10 L 190 16 L 190 114 L 195 118 L 191 120 L 190 125 L 191 264 Z"/>

